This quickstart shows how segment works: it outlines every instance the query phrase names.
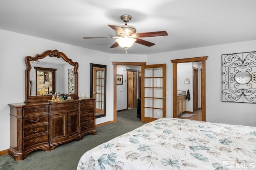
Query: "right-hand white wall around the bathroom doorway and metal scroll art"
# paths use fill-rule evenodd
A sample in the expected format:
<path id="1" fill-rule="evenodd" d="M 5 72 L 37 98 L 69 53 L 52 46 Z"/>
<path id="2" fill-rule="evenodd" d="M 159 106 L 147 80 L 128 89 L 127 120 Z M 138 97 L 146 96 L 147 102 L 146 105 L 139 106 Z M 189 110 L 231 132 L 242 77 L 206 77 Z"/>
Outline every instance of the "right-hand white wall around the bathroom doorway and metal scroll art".
<path id="1" fill-rule="evenodd" d="M 256 126 L 256 104 L 221 102 L 221 55 L 256 51 L 256 41 L 246 41 L 148 55 L 147 64 L 166 63 L 166 116 L 172 117 L 172 59 L 208 56 L 206 60 L 206 121 Z"/>

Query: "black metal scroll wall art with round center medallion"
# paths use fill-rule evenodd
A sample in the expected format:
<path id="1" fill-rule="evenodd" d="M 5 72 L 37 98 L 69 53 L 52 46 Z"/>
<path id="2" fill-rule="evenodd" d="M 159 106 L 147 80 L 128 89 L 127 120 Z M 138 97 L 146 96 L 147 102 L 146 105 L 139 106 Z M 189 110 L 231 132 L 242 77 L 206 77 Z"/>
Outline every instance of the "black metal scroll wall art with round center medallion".
<path id="1" fill-rule="evenodd" d="M 256 103 L 256 51 L 222 55 L 222 102 Z"/>

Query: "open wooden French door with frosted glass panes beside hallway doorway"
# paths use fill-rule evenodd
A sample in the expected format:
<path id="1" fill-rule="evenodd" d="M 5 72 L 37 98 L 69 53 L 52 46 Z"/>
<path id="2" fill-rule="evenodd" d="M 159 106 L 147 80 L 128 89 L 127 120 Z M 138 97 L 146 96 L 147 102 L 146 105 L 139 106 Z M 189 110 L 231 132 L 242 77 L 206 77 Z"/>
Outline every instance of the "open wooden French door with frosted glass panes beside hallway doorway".
<path id="1" fill-rule="evenodd" d="M 166 117 L 166 64 L 142 66 L 141 98 L 142 122 Z"/>

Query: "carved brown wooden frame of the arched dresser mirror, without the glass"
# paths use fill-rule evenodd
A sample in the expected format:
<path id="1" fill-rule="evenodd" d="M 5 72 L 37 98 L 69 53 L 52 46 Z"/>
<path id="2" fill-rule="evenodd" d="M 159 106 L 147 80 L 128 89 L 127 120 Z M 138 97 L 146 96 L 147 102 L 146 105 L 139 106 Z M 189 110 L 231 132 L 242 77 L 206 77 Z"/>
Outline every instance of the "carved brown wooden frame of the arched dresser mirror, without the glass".
<path id="1" fill-rule="evenodd" d="M 25 57 L 26 70 L 25 70 L 25 101 L 24 103 L 29 102 L 47 102 L 52 99 L 52 95 L 43 95 L 43 96 L 30 96 L 30 70 L 31 70 L 31 61 L 38 61 L 38 59 L 43 59 L 44 57 L 57 57 L 62 58 L 64 61 L 74 66 L 74 78 L 75 78 L 75 91 L 74 94 L 70 94 L 71 98 L 78 99 L 78 63 L 73 62 L 72 59 L 69 59 L 64 53 L 59 52 L 58 50 L 48 50 L 42 54 L 37 54 L 35 57 L 27 56 Z"/>

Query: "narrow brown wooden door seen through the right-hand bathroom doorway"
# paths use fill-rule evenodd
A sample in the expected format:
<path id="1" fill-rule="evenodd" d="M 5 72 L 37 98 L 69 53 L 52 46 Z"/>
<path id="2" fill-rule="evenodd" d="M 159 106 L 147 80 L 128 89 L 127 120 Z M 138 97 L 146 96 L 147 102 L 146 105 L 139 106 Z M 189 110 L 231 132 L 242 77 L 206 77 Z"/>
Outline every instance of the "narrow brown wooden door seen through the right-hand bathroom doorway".
<path id="1" fill-rule="evenodd" d="M 193 67 L 193 111 L 198 110 L 198 68 Z"/>

